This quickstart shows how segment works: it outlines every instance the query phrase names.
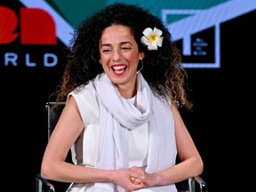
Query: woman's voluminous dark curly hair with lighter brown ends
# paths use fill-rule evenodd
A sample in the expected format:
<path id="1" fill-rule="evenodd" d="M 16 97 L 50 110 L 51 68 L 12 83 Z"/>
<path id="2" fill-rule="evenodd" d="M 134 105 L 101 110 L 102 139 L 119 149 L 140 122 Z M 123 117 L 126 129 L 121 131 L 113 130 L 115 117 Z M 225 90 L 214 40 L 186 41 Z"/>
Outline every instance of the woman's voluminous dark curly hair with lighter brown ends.
<path id="1" fill-rule="evenodd" d="M 103 73 L 100 65 L 100 37 L 102 31 L 112 25 L 124 25 L 131 28 L 132 35 L 139 45 L 139 51 L 145 52 L 143 69 L 140 73 L 148 84 L 160 96 L 169 95 L 180 106 L 191 109 L 192 103 L 187 99 L 187 73 L 181 66 L 180 52 L 162 20 L 150 10 L 138 4 L 115 3 L 84 20 L 75 30 L 68 47 L 67 64 L 60 82 L 60 91 L 55 92 L 56 100 L 67 98 L 69 92 L 80 85 L 86 85 L 95 76 Z M 162 47 L 148 51 L 140 43 L 145 28 L 159 28 L 163 32 Z"/>

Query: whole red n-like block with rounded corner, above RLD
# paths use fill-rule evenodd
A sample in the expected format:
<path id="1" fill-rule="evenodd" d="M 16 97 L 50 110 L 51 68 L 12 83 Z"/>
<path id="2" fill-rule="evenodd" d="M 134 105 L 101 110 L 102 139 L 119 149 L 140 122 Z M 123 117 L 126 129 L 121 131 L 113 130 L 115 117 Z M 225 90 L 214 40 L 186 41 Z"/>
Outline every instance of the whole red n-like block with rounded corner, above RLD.
<path id="1" fill-rule="evenodd" d="M 20 44 L 57 44 L 55 22 L 42 9 L 20 9 Z"/>

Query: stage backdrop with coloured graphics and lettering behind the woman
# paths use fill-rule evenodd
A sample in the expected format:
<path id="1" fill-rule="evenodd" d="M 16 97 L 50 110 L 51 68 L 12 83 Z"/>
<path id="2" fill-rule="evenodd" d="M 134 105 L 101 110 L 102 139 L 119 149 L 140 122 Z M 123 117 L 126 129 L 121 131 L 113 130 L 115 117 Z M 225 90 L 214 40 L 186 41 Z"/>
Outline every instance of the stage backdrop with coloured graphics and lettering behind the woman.
<path id="1" fill-rule="evenodd" d="M 60 82 L 63 50 L 84 18 L 114 2 L 0 2 L 1 127 L 17 135 L 12 142 L 24 155 L 16 156 L 15 151 L 13 164 L 21 160 L 28 163 L 25 170 L 33 189 L 47 142 L 44 106 Z M 241 133 L 249 129 L 242 116 L 247 115 L 252 97 L 256 1 L 124 2 L 148 7 L 170 29 L 188 71 L 189 97 L 195 104 L 193 113 L 180 112 L 204 159 L 204 180 L 210 192 L 234 190 L 232 185 L 224 189 L 223 184 L 227 175 L 236 180 L 229 162 L 237 159 Z M 6 150 L 13 156 L 13 150 Z M 237 183 L 237 187 L 242 185 Z"/>

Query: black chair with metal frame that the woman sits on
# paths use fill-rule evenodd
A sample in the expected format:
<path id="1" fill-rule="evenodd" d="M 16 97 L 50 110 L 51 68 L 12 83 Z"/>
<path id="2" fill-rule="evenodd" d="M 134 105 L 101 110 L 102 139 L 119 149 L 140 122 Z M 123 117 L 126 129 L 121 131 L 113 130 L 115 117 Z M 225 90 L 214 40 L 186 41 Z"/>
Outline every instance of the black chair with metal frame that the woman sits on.
<path id="1" fill-rule="evenodd" d="M 47 102 L 45 106 L 48 120 L 48 140 L 65 106 L 65 102 L 58 103 L 57 108 L 52 108 L 54 104 L 55 102 Z M 68 154 L 67 161 L 71 162 L 70 153 Z M 63 192 L 68 188 L 68 185 L 68 183 L 45 180 L 41 177 L 40 173 L 36 174 L 36 192 Z M 176 187 L 178 192 L 208 192 L 207 185 L 200 176 L 180 181 L 176 183 Z"/>

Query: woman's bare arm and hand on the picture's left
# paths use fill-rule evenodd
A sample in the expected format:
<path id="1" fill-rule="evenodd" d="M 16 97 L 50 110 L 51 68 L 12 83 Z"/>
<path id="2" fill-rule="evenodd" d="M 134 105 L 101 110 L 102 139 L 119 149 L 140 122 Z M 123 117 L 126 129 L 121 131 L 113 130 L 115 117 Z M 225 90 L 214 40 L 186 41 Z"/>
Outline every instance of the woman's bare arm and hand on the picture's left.
<path id="1" fill-rule="evenodd" d="M 130 180 L 131 176 L 142 179 L 138 172 L 132 172 L 129 169 L 100 170 L 65 162 L 69 148 L 83 129 L 84 124 L 76 100 L 70 97 L 45 148 L 41 165 L 42 177 L 48 180 L 77 183 L 106 181 L 116 183 L 128 190 L 141 188 L 140 185 L 132 184 Z"/>

